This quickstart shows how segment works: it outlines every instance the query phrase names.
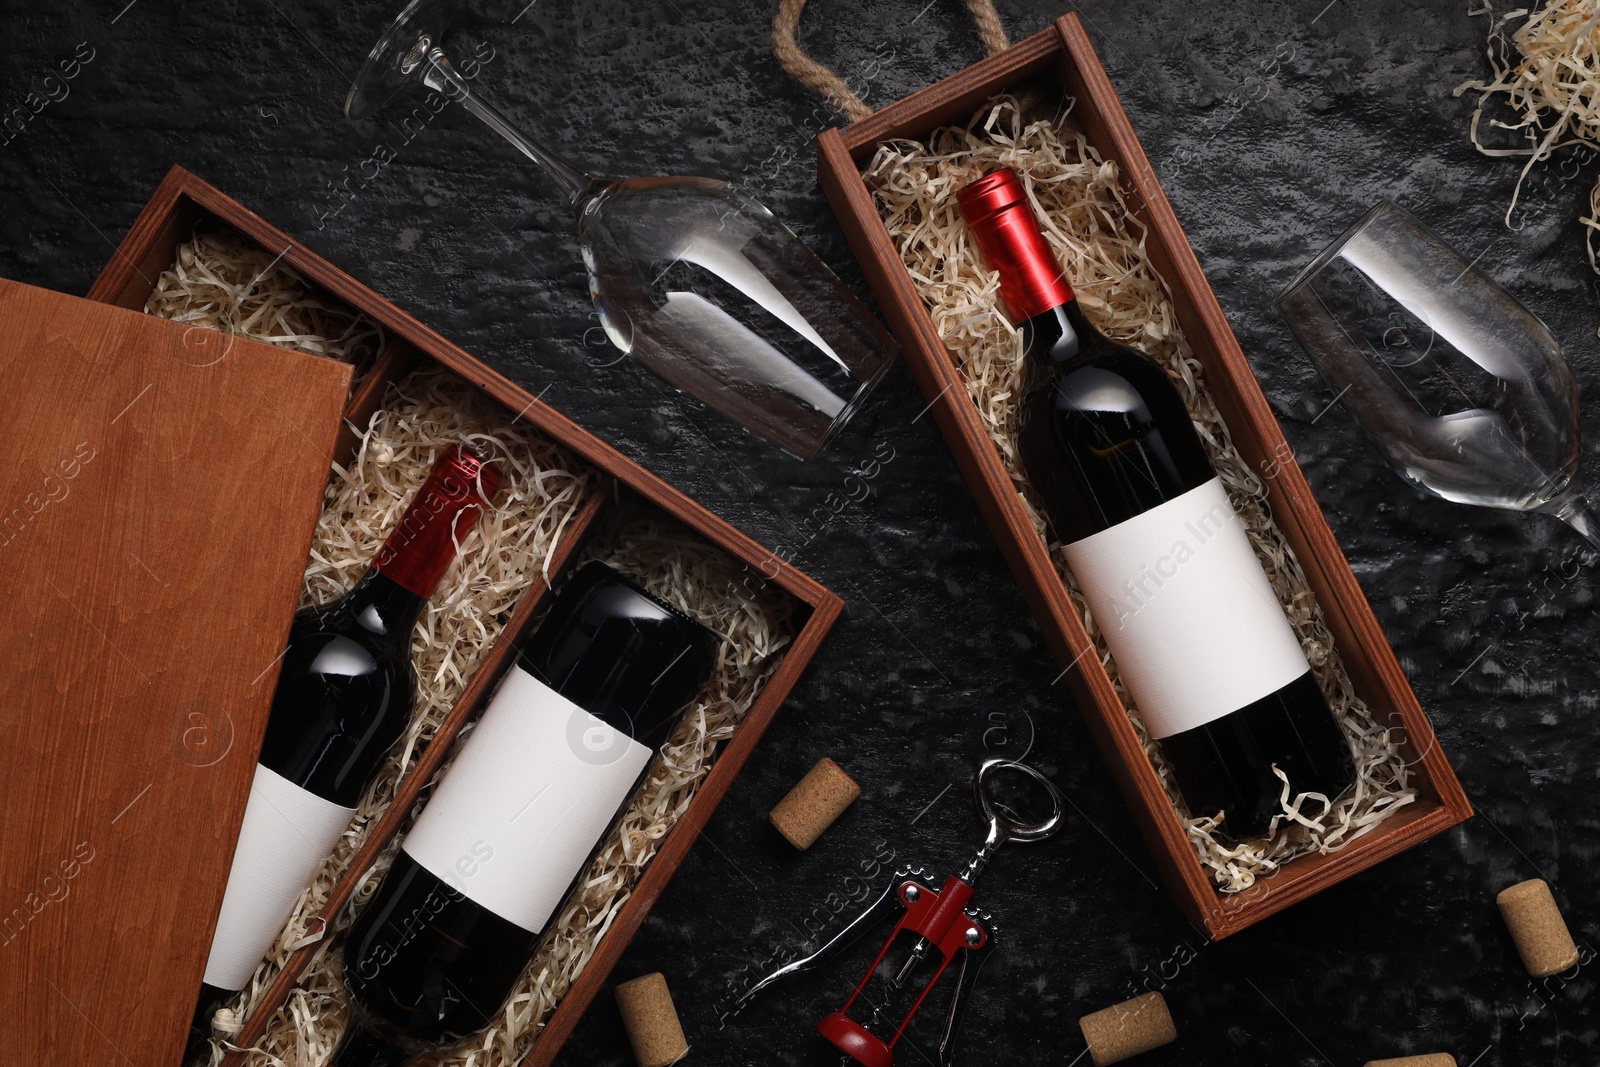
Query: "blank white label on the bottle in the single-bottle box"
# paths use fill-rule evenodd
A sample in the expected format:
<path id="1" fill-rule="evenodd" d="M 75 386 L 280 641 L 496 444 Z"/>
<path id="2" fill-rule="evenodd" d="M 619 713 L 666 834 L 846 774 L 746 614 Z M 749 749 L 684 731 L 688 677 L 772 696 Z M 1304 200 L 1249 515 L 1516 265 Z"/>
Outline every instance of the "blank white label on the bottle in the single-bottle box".
<path id="1" fill-rule="evenodd" d="M 1310 669 L 1221 478 L 1064 552 L 1154 737 L 1237 712 Z"/>

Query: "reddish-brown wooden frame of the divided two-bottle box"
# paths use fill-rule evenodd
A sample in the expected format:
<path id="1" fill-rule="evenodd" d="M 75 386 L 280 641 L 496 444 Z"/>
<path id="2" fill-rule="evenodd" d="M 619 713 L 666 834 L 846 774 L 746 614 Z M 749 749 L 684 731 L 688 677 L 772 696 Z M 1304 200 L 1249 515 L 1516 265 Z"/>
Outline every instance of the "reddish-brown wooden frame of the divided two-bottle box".
<path id="1" fill-rule="evenodd" d="M 776 557 L 755 541 L 746 537 L 610 445 L 592 437 L 549 405 L 536 402 L 533 395 L 504 376 L 490 370 L 462 349 L 309 251 L 299 242 L 269 226 L 254 213 L 182 168 L 174 166 L 165 181 L 162 181 L 133 229 L 123 238 L 117 254 L 94 282 L 90 298 L 142 310 L 146 299 L 154 290 L 155 278 L 173 264 L 178 246 L 189 240 L 197 227 L 203 229 L 216 224 L 232 229 L 272 254 L 282 254 L 282 264 L 298 272 L 315 290 L 320 290 L 322 294 L 365 314 L 384 328 L 386 344 L 349 400 L 346 410 L 347 424 L 365 426 L 373 411 L 378 410 L 384 397 L 384 389 L 390 381 L 395 381 L 418 365 L 432 362 L 453 371 L 469 384 L 477 386 L 486 397 L 498 402 L 504 408 L 507 421 L 522 419 L 531 424 L 539 434 L 560 445 L 571 456 L 600 472 L 602 477 L 597 488 L 579 506 L 552 550 L 549 566 L 552 576 L 560 574 L 573 565 L 587 536 L 595 530 L 608 509 L 627 496 L 659 509 L 659 512 L 683 523 L 707 542 L 718 545 L 733 558 L 742 561 L 752 573 L 770 579 L 794 601 L 795 616 L 792 625 L 795 632 L 792 643 L 782 653 L 782 661 L 744 713 L 733 737 L 717 752 L 710 773 L 701 782 L 694 800 L 672 827 L 670 833 L 661 841 L 659 851 L 645 867 L 632 896 L 618 912 L 594 958 L 571 985 L 566 997 L 546 1022 L 539 1038 L 522 1061 L 523 1067 L 541 1067 L 555 1057 L 557 1049 L 600 990 L 611 966 L 622 955 L 629 939 L 645 921 L 650 909 L 699 835 L 701 827 L 706 825 L 723 793 L 728 792 L 734 776 L 738 776 L 744 761 L 750 757 L 755 742 L 766 729 L 778 707 L 789 696 L 789 691 L 816 653 L 822 637 L 838 617 L 842 601 L 795 568 L 778 563 Z M 334 450 L 336 461 L 344 462 L 354 445 L 355 432 L 347 426 Z M 448 758 L 453 737 L 480 710 L 485 697 L 494 688 L 501 670 L 514 657 L 517 641 L 538 616 L 547 593 L 549 587 L 536 579 L 528 593 L 520 600 L 512 621 L 482 661 L 482 665 L 446 715 L 434 741 L 422 749 L 416 765 L 402 779 L 394 801 L 378 821 L 363 849 L 334 886 L 333 894 L 320 912 L 326 925 L 333 925 L 341 909 L 349 902 L 363 870 L 384 849 L 384 845 L 406 827 L 408 816 L 419 793 Z M 218 888 L 218 904 L 221 904 L 221 886 Z M 206 923 L 214 923 L 214 913 L 206 917 Z M 210 933 L 203 944 L 210 944 Z M 290 957 L 288 965 L 267 990 L 266 998 L 251 1016 L 243 1033 L 235 1040 L 237 1045 L 248 1048 L 261 1038 L 269 1019 L 283 1005 L 298 977 L 315 955 L 315 950 L 317 945 L 307 945 Z M 203 958 L 195 960 L 194 989 L 200 985 L 202 963 Z M 181 1041 L 181 1037 L 178 1040 Z M 235 1064 L 242 1059 L 243 1054 L 235 1053 L 224 1062 Z"/>

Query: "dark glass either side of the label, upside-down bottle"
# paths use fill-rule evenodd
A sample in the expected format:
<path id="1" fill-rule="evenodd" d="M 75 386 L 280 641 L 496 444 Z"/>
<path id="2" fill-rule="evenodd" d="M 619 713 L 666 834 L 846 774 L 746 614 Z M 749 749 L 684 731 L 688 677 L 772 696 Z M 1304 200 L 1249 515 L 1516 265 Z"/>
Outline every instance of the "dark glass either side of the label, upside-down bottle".
<path id="1" fill-rule="evenodd" d="M 589 563 L 562 587 L 510 670 L 654 749 L 704 685 L 715 648 L 698 622 Z M 402 848 L 344 945 L 352 1021 L 331 1067 L 394 1067 L 482 1030 L 541 937 Z"/>

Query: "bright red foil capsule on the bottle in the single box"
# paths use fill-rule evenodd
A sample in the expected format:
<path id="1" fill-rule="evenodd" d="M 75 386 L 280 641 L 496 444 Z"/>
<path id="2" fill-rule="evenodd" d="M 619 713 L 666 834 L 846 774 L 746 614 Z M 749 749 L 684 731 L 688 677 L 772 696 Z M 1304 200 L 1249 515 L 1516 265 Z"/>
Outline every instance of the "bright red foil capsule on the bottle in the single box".
<path id="1" fill-rule="evenodd" d="M 1038 229 L 1022 179 L 1011 168 L 989 171 L 955 194 L 984 259 L 1000 275 L 1000 299 L 1013 325 L 1072 299 L 1056 253 Z"/>

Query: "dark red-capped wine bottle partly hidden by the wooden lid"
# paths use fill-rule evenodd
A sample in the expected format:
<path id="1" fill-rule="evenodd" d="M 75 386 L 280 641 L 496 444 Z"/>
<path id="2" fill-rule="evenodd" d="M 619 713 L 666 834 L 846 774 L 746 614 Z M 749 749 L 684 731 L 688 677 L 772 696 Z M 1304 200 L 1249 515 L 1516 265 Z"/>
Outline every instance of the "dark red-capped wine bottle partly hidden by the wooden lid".
<path id="1" fill-rule="evenodd" d="M 190 1057 L 210 1037 L 214 1009 L 272 949 L 411 720 L 411 630 L 498 486 L 493 466 L 448 448 L 355 587 L 294 616 L 195 1006 Z"/>

